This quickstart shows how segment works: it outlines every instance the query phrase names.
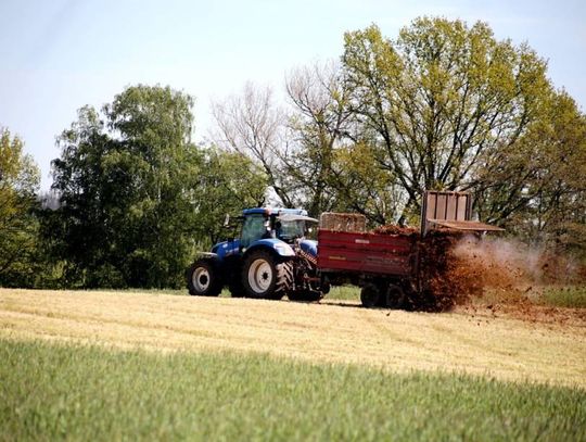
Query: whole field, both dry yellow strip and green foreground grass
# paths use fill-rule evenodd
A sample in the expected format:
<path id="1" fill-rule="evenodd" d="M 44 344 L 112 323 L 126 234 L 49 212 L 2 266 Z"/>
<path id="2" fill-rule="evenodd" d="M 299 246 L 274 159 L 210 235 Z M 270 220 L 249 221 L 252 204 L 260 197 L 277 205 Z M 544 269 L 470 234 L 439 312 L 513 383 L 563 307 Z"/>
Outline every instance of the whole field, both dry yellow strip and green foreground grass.
<path id="1" fill-rule="evenodd" d="M 0 289 L 0 440 L 586 440 L 584 311 L 366 310 L 343 290 Z"/>

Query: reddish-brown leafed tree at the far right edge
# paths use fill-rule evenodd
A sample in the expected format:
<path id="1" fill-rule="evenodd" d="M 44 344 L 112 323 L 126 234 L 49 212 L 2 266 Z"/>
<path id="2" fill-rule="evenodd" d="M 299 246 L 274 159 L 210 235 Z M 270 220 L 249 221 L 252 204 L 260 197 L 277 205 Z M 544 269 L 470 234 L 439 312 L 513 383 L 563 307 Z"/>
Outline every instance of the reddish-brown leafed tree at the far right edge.
<path id="1" fill-rule="evenodd" d="M 515 149 L 483 172 L 481 216 L 530 242 L 586 251 L 586 117 L 565 92 Z"/>

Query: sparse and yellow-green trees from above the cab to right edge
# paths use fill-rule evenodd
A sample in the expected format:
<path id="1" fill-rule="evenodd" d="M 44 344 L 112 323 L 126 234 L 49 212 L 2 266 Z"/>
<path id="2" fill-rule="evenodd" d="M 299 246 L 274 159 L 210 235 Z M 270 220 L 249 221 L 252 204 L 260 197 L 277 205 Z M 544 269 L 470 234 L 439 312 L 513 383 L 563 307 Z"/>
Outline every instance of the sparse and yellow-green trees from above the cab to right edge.
<path id="1" fill-rule="evenodd" d="M 475 193 L 480 218 L 586 255 L 585 116 L 527 45 L 477 22 L 419 17 L 344 35 L 341 64 L 286 78 L 291 112 L 244 89 L 215 109 L 285 205 L 419 223 L 424 190 Z M 574 171 L 574 173 L 572 173 Z"/>

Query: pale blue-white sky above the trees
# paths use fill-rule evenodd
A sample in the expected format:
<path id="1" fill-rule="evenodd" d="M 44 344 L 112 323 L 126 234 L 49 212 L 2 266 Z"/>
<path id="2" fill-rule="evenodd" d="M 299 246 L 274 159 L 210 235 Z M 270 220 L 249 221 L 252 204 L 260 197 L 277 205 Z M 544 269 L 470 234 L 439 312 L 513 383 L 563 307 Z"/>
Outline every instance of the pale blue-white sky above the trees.
<path id="1" fill-rule="evenodd" d="M 345 31 L 374 23 L 395 38 L 421 15 L 483 21 L 498 39 L 527 42 L 586 111 L 584 0 L 0 0 L 0 126 L 23 139 L 48 190 L 55 137 L 86 104 L 168 85 L 195 98 L 201 141 L 212 100 L 247 80 L 280 93 L 291 70 L 339 59 Z"/>

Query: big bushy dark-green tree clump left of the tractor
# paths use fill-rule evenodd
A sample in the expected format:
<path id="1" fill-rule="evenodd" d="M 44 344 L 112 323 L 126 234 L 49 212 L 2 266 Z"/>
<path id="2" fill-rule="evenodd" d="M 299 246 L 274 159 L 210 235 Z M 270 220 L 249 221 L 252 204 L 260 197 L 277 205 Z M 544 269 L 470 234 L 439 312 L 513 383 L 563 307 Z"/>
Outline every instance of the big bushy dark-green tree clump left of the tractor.
<path id="1" fill-rule="evenodd" d="M 65 286 L 180 287 L 194 245 L 221 222 L 209 209 L 241 209 L 246 192 L 258 194 L 247 163 L 238 174 L 238 159 L 213 160 L 191 143 L 192 104 L 168 87 L 129 87 L 102 114 L 82 108 L 59 138 L 61 207 L 43 227 Z"/>

